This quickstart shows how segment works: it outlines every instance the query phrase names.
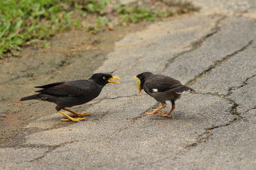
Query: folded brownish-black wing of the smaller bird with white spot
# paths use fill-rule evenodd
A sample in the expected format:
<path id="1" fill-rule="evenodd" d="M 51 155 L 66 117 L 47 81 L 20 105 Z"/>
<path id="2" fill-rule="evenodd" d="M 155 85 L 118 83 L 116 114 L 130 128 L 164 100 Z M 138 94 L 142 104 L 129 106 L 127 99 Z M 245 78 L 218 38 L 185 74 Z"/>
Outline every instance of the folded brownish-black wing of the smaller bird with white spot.
<path id="1" fill-rule="evenodd" d="M 164 92 L 183 85 L 180 81 L 171 77 L 155 74 L 153 77 L 146 79 L 144 86 L 150 92 Z"/>

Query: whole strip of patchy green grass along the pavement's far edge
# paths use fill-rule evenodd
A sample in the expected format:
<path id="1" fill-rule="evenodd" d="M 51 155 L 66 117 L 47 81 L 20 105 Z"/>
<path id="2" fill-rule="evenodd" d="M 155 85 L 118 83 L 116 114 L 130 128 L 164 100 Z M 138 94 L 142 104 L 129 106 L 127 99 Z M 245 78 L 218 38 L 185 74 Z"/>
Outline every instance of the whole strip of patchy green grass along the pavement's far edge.
<path id="1" fill-rule="evenodd" d="M 193 11 L 186 6 L 182 8 Z M 97 33 L 107 26 L 156 21 L 172 14 L 132 4 L 111 4 L 110 0 L 3 0 L 0 1 L 0 58 L 16 56 L 22 47 L 72 28 Z M 41 47 L 48 45 L 46 42 Z"/>

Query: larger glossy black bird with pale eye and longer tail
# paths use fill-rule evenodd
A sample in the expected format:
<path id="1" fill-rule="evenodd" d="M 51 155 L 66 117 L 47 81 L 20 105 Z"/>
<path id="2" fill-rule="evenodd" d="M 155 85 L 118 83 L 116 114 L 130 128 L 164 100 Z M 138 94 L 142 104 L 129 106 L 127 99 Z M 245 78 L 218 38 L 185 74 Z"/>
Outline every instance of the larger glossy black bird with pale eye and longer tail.
<path id="1" fill-rule="evenodd" d="M 91 101 L 93 98 L 99 96 L 102 88 L 108 83 L 119 84 L 111 79 L 119 79 L 119 77 L 112 77 L 111 74 L 97 73 L 93 74 L 90 79 L 82 79 L 75 81 L 65 81 L 53 84 L 46 84 L 44 86 L 36 86 L 36 88 L 41 88 L 38 90 L 39 94 L 34 94 L 32 96 L 27 96 L 21 98 L 20 101 L 27 101 L 32 99 L 38 99 L 42 101 L 50 101 L 57 106 L 55 109 L 58 113 L 65 115 L 68 119 L 62 119 L 63 121 L 75 121 L 85 120 L 85 118 L 72 118 L 73 116 L 82 117 L 84 115 L 90 115 L 86 113 L 76 113 L 75 111 L 70 111 L 66 107 L 72 107 L 76 105 L 81 105 Z M 60 111 L 61 109 L 73 113 L 73 115 L 67 115 Z"/>

